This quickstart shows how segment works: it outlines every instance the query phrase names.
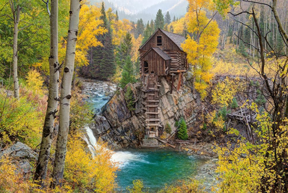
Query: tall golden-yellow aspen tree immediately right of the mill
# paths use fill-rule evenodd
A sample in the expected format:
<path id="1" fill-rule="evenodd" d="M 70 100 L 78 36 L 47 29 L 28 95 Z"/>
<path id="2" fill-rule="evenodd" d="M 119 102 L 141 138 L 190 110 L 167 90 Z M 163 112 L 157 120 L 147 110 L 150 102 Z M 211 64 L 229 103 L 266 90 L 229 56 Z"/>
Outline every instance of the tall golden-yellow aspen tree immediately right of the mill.
<path id="1" fill-rule="evenodd" d="M 193 37 L 188 36 L 182 44 L 182 48 L 187 52 L 187 60 L 193 68 L 194 87 L 200 92 L 202 99 L 205 98 L 206 89 L 213 78 L 213 74 L 210 73 L 211 56 L 217 49 L 220 33 L 217 22 L 210 21 L 203 10 L 204 8 L 212 9 L 213 3 L 211 3 L 212 1 L 189 1 L 187 30 L 193 34 Z"/>

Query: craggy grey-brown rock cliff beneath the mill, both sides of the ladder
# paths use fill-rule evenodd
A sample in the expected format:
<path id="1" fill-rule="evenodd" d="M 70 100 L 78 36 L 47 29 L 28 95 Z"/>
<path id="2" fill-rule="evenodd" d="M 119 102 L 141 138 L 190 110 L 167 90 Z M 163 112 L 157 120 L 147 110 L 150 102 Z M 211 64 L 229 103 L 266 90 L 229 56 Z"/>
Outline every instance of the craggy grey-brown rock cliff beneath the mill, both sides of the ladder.
<path id="1" fill-rule="evenodd" d="M 189 74 L 183 78 L 183 84 L 179 91 L 176 91 L 178 82 L 175 81 L 173 93 L 170 94 L 171 83 L 165 78 L 160 79 L 160 124 L 162 128 L 169 123 L 172 130 L 174 124 L 183 116 L 190 126 L 193 126 L 197 117 L 200 100 L 191 91 L 191 83 L 187 80 Z M 176 78 L 178 80 L 178 78 Z M 132 90 L 133 109 L 128 109 L 127 92 L 128 87 Z M 108 142 L 113 149 L 136 147 L 141 144 L 145 131 L 145 112 L 143 111 L 143 98 L 141 95 L 141 83 L 128 84 L 125 89 L 115 93 L 110 101 L 104 106 L 100 115 L 95 117 L 95 123 L 91 129 L 96 138 Z"/>

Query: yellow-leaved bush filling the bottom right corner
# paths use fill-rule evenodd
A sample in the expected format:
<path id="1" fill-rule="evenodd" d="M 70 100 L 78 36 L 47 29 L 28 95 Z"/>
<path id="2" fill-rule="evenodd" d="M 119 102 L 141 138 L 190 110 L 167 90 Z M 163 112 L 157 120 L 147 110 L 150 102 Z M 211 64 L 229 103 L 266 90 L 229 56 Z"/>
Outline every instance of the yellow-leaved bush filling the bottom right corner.
<path id="1" fill-rule="evenodd" d="M 279 134 L 275 135 L 272 126 L 279 123 L 272 123 L 268 113 L 261 114 L 254 103 L 248 108 L 257 113 L 258 125 L 254 128 L 254 132 L 259 142 L 250 143 L 244 137 L 238 137 L 239 140 L 234 148 L 229 143 L 227 146 L 217 147 L 215 150 L 219 155 L 217 172 L 222 179 L 217 185 L 217 192 L 259 192 L 260 190 L 274 192 L 272 190 L 274 184 L 285 181 L 285 174 L 283 176 L 277 174 L 279 171 L 276 171 L 275 159 L 288 154 L 287 118 L 282 120 Z M 229 133 L 239 136 L 239 132 L 235 129 L 230 129 Z M 273 148 L 274 144 L 270 142 L 273 137 L 278 144 L 276 150 Z M 281 161 L 285 162 L 285 160 Z M 284 170 L 282 172 L 285 172 Z M 263 180 L 268 184 L 263 184 Z"/>

